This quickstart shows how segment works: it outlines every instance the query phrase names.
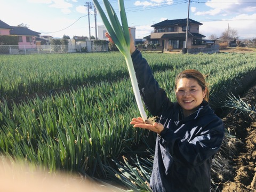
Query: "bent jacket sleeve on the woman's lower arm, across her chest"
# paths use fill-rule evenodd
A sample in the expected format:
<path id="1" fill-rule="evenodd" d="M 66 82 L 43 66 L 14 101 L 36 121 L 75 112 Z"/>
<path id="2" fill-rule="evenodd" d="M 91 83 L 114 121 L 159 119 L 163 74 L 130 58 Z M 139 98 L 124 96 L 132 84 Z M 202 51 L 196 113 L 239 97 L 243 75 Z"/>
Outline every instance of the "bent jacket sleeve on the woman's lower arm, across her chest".
<path id="1" fill-rule="evenodd" d="M 212 158 L 220 149 L 225 135 L 222 120 L 217 116 L 204 120 L 208 123 L 193 128 L 198 132 L 193 139 L 179 138 L 167 128 L 161 132 L 158 137 L 159 143 L 170 153 L 174 161 L 183 166 L 195 167 Z"/>

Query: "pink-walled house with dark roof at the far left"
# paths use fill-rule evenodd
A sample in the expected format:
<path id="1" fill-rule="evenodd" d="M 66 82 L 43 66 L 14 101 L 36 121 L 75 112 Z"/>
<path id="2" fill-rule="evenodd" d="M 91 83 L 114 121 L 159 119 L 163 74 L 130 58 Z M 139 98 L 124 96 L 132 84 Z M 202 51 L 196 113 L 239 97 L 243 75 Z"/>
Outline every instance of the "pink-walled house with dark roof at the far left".
<path id="1" fill-rule="evenodd" d="M 27 27 L 9 26 L 0 20 L 0 35 L 16 35 L 18 36 L 19 49 L 36 49 L 36 37 L 39 36 L 36 31 Z"/>

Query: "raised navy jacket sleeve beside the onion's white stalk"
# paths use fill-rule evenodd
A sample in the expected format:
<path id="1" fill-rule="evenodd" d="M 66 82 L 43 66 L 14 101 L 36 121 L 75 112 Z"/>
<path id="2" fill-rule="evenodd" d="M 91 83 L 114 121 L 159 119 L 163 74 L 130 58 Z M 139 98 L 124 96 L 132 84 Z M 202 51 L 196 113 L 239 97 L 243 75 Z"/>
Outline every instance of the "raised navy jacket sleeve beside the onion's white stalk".
<path id="1" fill-rule="evenodd" d="M 141 97 L 149 112 L 159 117 L 163 106 L 172 105 L 172 103 L 166 97 L 165 91 L 159 87 L 153 71 L 146 59 L 142 58 L 140 51 L 135 50 L 131 56 Z"/>

